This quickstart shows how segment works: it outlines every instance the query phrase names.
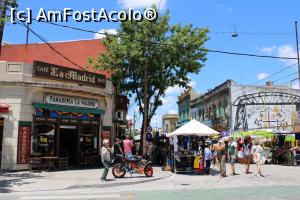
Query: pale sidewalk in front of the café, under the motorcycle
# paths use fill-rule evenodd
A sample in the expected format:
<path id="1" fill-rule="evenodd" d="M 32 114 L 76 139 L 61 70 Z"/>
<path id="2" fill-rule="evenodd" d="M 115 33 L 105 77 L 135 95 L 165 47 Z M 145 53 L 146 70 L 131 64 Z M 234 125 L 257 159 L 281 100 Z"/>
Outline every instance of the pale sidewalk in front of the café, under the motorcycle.
<path id="1" fill-rule="evenodd" d="M 154 176 L 126 174 L 124 178 L 115 179 L 108 173 L 110 181 L 101 182 L 103 169 L 66 170 L 54 172 L 0 172 L 0 192 L 33 192 L 90 187 L 111 187 L 138 184 L 160 180 L 171 176 L 171 172 L 154 167 Z"/>

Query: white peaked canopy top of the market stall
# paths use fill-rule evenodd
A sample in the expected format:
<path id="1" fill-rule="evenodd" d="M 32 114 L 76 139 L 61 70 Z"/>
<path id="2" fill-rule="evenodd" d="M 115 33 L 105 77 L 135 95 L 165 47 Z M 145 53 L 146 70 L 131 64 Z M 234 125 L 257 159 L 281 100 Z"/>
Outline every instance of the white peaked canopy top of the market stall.
<path id="1" fill-rule="evenodd" d="M 193 119 L 174 132 L 168 134 L 168 137 L 172 137 L 175 135 L 213 136 L 219 134 L 220 133 L 215 131 L 214 129 L 209 128 L 208 126 Z"/>

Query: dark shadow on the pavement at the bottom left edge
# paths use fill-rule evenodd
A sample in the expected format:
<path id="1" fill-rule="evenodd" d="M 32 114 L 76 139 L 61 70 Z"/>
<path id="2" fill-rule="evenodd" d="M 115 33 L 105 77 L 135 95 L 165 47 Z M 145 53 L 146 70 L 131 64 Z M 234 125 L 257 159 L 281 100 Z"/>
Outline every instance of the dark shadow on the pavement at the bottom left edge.
<path id="1" fill-rule="evenodd" d="M 0 193 L 13 192 L 13 186 L 31 184 L 32 181 L 26 181 L 31 178 L 43 178 L 41 175 L 36 175 L 28 172 L 0 172 Z"/>

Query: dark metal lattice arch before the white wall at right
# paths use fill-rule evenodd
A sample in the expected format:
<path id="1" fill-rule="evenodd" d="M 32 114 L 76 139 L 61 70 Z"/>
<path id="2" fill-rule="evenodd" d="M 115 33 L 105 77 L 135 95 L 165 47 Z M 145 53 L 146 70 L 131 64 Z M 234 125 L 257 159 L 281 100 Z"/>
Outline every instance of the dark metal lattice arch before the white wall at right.
<path id="1" fill-rule="evenodd" d="M 258 92 L 239 96 L 233 102 L 237 106 L 234 130 L 248 130 L 247 105 L 300 105 L 300 96 L 286 92 Z"/>

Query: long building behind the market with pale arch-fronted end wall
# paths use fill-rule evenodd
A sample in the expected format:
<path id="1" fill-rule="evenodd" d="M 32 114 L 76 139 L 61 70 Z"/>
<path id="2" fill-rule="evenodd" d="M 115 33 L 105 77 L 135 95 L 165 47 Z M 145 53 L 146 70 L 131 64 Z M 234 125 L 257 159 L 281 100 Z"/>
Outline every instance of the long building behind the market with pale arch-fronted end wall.
<path id="1" fill-rule="evenodd" d="M 268 82 L 262 86 L 238 85 L 227 80 L 191 101 L 193 119 L 224 136 L 233 131 L 299 127 L 300 91 Z"/>

